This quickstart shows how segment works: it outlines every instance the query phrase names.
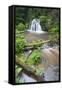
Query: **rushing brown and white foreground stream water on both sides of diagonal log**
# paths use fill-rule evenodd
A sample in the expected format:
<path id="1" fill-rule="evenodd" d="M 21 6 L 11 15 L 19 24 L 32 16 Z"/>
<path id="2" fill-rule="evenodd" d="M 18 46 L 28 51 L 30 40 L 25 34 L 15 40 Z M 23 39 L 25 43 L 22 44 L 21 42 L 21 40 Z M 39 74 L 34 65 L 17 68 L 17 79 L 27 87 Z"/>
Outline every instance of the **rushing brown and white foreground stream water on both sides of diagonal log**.
<path id="1" fill-rule="evenodd" d="M 58 81 L 59 80 L 59 47 L 44 46 L 42 49 L 44 54 L 42 64 L 45 64 L 44 81 Z M 26 53 L 26 55 L 28 52 Z M 46 58 L 47 57 L 47 58 Z M 34 78 L 22 72 L 20 77 L 24 82 L 37 82 Z"/>

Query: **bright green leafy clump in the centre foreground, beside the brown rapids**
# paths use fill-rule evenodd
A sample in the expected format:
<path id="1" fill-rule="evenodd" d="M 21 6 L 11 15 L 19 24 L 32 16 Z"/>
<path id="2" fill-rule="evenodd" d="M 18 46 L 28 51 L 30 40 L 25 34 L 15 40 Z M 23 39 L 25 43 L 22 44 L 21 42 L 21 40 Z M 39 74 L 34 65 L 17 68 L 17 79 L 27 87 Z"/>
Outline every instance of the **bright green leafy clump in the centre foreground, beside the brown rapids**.
<path id="1" fill-rule="evenodd" d="M 41 52 L 40 50 L 34 50 L 27 60 L 27 64 L 36 65 L 40 62 Z"/>

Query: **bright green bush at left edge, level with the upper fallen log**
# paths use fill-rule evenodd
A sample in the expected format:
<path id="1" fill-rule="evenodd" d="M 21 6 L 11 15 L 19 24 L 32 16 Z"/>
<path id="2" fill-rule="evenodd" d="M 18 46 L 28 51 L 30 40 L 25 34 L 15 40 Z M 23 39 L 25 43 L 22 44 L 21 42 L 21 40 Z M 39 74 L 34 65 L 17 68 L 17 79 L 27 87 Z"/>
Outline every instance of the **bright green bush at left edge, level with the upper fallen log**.
<path id="1" fill-rule="evenodd" d="M 16 38 L 16 53 L 23 52 L 25 40 L 23 37 Z"/>

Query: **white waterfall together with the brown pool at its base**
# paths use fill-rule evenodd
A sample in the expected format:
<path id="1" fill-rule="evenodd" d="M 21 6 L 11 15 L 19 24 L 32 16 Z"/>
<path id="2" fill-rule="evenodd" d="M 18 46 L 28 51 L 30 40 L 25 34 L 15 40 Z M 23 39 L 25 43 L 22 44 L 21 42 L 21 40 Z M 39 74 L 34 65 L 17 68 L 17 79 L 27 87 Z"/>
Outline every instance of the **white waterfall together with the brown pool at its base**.
<path id="1" fill-rule="evenodd" d="M 37 39 L 48 40 L 48 32 L 42 30 L 39 19 L 33 19 L 29 24 L 29 29 L 25 31 L 25 38 L 28 42 Z"/>

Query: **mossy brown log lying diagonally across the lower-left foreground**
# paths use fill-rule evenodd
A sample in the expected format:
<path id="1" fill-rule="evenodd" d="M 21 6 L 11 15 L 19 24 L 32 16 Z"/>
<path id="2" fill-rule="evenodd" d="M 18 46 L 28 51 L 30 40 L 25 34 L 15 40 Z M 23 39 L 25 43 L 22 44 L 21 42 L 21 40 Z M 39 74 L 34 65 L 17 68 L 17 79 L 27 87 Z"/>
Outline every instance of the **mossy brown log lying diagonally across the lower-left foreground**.
<path id="1" fill-rule="evenodd" d="M 36 79 L 38 82 L 43 81 L 43 74 L 42 74 L 42 76 L 36 75 L 34 69 L 32 69 L 28 65 L 22 63 L 21 60 L 19 60 L 18 58 L 16 58 L 16 64 L 19 65 L 21 68 L 23 68 L 23 72 L 25 74 L 27 74 L 28 76 Z"/>

